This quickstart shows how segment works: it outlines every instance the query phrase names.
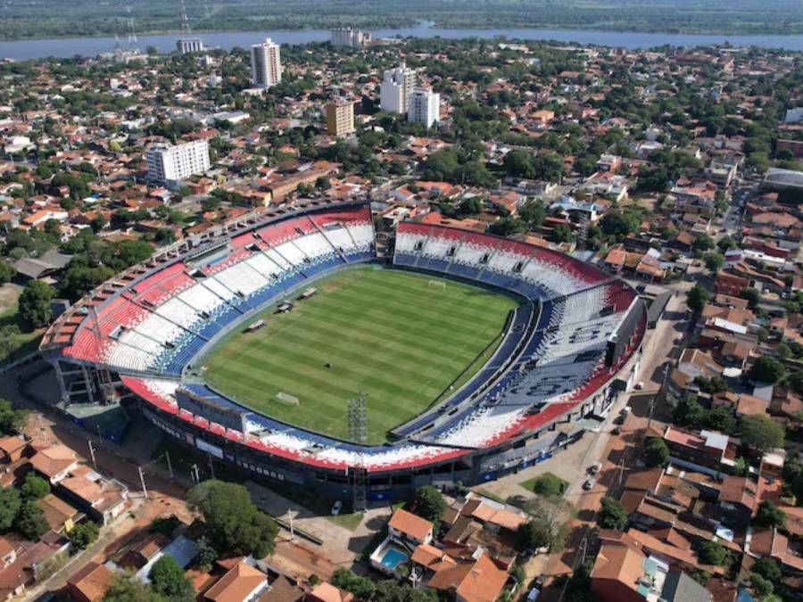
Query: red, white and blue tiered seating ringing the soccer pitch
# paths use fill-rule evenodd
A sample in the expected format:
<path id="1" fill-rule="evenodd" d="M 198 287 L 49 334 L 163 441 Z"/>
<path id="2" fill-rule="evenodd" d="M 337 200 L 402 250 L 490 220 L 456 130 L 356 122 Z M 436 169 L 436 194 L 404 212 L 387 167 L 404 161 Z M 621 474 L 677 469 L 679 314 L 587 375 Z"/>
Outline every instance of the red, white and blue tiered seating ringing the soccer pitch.
<path id="1" fill-rule="evenodd" d="M 210 342 L 258 309 L 315 276 L 375 259 L 368 207 L 257 221 L 215 244 L 206 255 L 175 257 L 124 275 L 120 287 L 103 287 L 62 317 L 45 344 L 62 358 L 119 373 L 158 416 L 178 421 L 169 425 L 154 414 L 162 428 L 192 425 L 292 464 L 385 473 L 532 436 L 580 411 L 633 356 L 646 327 L 633 290 L 582 261 L 492 235 L 404 222 L 396 232 L 396 267 L 501 287 L 525 301 L 476 375 L 397 427 L 397 441 L 363 446 L 254 413 L 181 375 Z M 622 350 L 614 361 L 606 353 L 611 341 Z M 195 411 L 179 408 L 184 391 L 202 400 Z M 245 432 L 216 422 L 203 400 L 247 415 Z"/>

